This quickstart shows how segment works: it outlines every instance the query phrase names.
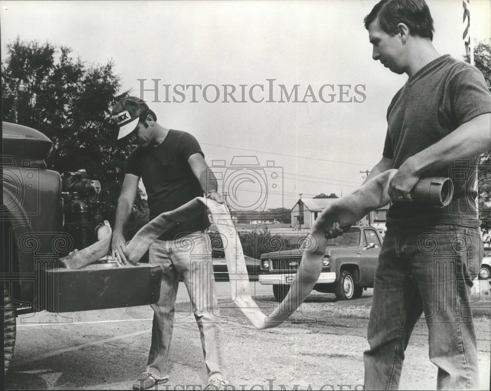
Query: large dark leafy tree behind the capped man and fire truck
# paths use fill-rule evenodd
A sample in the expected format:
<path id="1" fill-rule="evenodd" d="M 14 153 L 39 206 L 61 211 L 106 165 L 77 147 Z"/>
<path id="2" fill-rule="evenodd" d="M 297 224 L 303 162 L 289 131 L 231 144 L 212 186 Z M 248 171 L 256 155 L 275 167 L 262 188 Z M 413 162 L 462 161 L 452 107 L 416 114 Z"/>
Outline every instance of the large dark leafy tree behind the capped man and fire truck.
<path id="1" fill-rule="evenodd" d="M 14 99 L 22 79 L 26 90 L 17 92 L 18 123 L 51 139 L 50 168 L 60 173 L 83 168 L 101 182 L 102 212 L 113 221 L 124 162 L 134 147 L 116 145 L 110 107 L 128 91 L 120 92 L 112 60 L 87 65 L 80 57 L 73 59 L 71 53 L 68 47 L 19 37 L 7 44 L 7 57 L 1 64 L 2 120 L 15 120 Z M 146 203 L 141 194 L 136 198 L 135 205 L 141 210 Z"/>

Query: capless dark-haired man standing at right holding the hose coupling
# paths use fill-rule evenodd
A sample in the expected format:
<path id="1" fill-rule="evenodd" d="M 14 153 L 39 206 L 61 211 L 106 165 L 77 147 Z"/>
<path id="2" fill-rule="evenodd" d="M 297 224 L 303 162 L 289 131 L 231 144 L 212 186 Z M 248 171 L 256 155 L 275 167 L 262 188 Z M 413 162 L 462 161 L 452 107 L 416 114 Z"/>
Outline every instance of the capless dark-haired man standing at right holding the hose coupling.
<path id="1" fill-rule="evenodd" d="M 477 389 L 468 303 L 483 253 L 469 178 L 475 157 L 491 148 L 491 94 L 475 67 L 436 52 L 425 1 L 380 1 L 364 23 L 373 59 L 409 76 L 387 110 L 382 159 L 367 178 L 398 169 L 388 186 L 392 205 L 375 273 L 365 386 L 398 388 L 409 337 L 424 313 L 437 389 Z M 432 176 L 455 180 L 446 208 L 412 200 L 418 180 Z M 333 226 L 331 236 L 340 230 Z"/>

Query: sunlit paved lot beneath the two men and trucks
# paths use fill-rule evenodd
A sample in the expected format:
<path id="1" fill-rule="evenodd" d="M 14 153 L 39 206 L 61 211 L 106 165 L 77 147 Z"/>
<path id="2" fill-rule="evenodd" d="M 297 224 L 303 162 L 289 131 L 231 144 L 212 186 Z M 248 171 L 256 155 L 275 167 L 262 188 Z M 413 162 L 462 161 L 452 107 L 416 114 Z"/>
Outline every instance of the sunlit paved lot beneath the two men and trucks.
<path id="1" fill-rule="evenodd" d="M 349 302 L 336 301 L 334 295 L 312 294 L 289 322 L 257 331 L 231 303 L 230 285 L 220 282 L 217 287 L 229 382 L 235 389 L 270 390 L 282 385 L 286 390 L 295 385 L 299 390 L 324 385 L 328 385 L 326 390 L 361 389 L 371 290 Z M 263 312 L 269 314 L 275 306 L 271 287 L 251 283 L 251 289 Z M 206 372 L 182 283 L 177 301 L 168 389 L 199 390 L 206 382 Z M 150 307 L 141 306 L 22 316 L 5 389 L 131 389 L 146 363 L 152 315 Z M 489 390 L 490 319 L 479 317 L 475 322 L 481 388 Z M 426 325 L 419 323 L 407 349 L 400 389 L 435 389 L 436 367 L 428 360 L 427 338 Z"/>

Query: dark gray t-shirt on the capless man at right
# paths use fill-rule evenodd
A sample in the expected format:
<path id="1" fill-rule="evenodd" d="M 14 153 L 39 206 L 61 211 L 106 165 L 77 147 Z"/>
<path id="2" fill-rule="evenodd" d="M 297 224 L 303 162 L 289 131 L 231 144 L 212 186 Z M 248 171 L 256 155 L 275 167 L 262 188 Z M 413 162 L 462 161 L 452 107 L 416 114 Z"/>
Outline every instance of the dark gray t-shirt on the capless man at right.
<path id="1" fill-rule="evenodd" d="M 412 75 L 392 99 L 383 157 L 392 159 L 393 168 L 398 169 L 410 156 L 463 123 L 490 112 L 491 93 L 482 73 L 449 55 L 441 56 Z M 434 176 L 453 180 L 454 197 L 449 206 L 396 202 L 387 212 L 387 221 L 476 225 L 474 160 L 457 161 Z"/>

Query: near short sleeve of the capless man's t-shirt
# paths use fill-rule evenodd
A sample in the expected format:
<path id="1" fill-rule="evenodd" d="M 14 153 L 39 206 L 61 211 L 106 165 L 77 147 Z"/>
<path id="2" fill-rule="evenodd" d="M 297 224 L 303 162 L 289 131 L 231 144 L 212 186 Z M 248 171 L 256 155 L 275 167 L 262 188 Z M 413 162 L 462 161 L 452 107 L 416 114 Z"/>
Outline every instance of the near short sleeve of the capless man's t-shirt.
<path id="1" fill-rule="evenodd" d="M 460 126 L 481 114 L 491 112 L 491 92 L 479 69 L 464 64 L 449 79 L 445 89 L 443 106 L 453 112 Z"/>

